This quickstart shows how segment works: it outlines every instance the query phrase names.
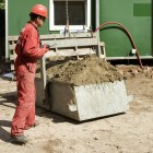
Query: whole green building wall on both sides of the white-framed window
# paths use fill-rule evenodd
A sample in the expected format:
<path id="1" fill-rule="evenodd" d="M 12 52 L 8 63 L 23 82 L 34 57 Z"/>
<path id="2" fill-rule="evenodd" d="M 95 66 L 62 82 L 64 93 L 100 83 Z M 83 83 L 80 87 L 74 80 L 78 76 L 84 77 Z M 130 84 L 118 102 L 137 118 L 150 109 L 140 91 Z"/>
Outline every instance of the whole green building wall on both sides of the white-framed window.
<path id="1" fill-rule="evenodd" d="M 30 20 L 30 11 L 36 3 L 49 7 L 49 0 L 9 0 L 9 35 L 19 35 Z M 118 22 L 127 27 L 138 47 L 140 56 L 152 56 L 151 0 L 99 0 L 99 23 Z M 49 9 L 49 8 L 48 8 Z M 92 0 L 92 27 L 95 30 L 95 0 Z M 40 34 L 49 34 L 48 19 Z M 127 34 L 116 25 L 108 25 L 99 32 L 105 42 L 107 57 L 128 57 L 131 43 Z"/>

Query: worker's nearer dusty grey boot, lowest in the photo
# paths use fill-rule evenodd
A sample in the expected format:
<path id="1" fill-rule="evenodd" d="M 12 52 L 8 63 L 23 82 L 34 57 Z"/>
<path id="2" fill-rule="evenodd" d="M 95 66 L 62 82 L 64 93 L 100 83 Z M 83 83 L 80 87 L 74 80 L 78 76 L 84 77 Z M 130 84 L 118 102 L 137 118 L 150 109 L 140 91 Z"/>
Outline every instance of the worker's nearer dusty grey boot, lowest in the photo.
<path id="1" fill-rule="evenodd" d="M 12 137 L 12 142 L 16 144 L 25 144 L 28 139 L 24 134 L 20 136 L 11 136 Z"/>

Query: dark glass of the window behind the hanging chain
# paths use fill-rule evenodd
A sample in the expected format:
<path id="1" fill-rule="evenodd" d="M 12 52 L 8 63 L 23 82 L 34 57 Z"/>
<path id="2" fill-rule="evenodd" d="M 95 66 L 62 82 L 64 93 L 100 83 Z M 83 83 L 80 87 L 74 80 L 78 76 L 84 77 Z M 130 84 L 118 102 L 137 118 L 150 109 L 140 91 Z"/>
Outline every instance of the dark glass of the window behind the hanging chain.
<path id="1" fill-rule="evenodd" d="M 85 2 L 68 1 L 69 25 L 85 25 Z M 66 25 L 66 1 L 55 1 L 55 25 Z"/>

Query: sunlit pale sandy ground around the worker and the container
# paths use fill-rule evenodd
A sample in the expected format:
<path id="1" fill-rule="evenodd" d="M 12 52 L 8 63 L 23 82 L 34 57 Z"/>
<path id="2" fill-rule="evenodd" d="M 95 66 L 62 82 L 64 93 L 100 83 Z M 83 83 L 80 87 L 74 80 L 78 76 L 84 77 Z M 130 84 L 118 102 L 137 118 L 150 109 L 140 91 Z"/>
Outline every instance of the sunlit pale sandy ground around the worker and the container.
<path id="1" fill-rule="evenodd" d="M 127 74 L 133 101 L 126 114 L 78 122 L 37 107 L 40 125 L 25 131 L 25 145 L 10 139 L 15 81 L 0 78 L 0 153 L 153 153 L 153 79 L 136 73 Z"/>

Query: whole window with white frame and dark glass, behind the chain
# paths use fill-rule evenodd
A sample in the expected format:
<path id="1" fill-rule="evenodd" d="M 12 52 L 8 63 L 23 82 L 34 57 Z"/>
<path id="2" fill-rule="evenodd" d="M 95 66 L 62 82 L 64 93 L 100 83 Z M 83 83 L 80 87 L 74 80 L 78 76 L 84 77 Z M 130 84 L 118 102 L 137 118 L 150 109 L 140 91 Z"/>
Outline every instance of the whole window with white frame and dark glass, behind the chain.
<path id="1" fill-rule="evenodd" d="M 91 25 L 91 0 L 50 0 L 49 30 L 63 31 L 69 16 L 70 31 Z M 68 8 L 68 15 L 67 15 Z"/>

